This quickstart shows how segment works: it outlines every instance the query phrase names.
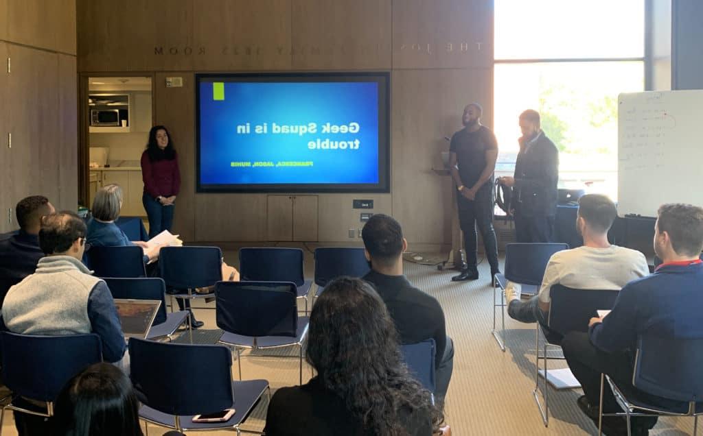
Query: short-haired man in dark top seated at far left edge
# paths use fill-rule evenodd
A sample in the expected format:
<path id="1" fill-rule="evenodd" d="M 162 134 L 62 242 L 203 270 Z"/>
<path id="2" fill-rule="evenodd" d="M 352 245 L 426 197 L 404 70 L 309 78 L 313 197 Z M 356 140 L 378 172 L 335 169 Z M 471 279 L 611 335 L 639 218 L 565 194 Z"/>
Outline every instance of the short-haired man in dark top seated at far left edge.
<path id="1" fill-rule="evenodd" d="M 20 230 L 0 241 L 0 306 L 10 286 L 32 274 L 44 257 L 39 248 L 41 217 L 54 213 L 49 199 L 32 195 L 15 206 Z"/>

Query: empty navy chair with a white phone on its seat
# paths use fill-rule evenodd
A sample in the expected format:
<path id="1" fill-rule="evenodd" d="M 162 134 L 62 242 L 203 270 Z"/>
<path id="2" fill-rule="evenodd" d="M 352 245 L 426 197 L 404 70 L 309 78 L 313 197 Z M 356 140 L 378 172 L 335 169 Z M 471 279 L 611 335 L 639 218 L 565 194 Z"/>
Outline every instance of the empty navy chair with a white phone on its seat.
<path id="1" fill-rule="evenodd" d="M 232 430 L 240 425 L 264 392 L 266 380 L 232 381 L 232 354 L 222 345 L 192 345 L 129 339 L 130 374 L 139 401 L 139 417 L 179 432 Z M 186 376 L 174 381 L 175 369 Z M 270 395 L 270 392 L 269 392 Z M 197 414 L 235 409 L 226 422 L 193 423 Z"/>

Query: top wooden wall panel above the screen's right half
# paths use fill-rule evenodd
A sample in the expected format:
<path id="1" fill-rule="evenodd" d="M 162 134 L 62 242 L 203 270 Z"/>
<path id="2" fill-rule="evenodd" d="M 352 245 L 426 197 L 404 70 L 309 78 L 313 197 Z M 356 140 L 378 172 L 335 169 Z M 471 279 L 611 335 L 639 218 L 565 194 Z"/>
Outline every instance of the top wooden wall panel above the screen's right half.
<path id="1" fill-rule="evenodd" d="M 388 70 L 391 0 L 295 0 L 294 70 Z"/>

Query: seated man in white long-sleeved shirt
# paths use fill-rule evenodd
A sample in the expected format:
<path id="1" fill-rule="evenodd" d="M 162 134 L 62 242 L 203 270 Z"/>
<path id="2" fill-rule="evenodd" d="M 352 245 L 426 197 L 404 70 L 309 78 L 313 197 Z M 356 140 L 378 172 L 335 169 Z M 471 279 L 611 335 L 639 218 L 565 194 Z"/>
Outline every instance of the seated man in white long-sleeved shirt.
<path id="1" fill-rule="evenodd" d="M 608 230 L 616 217 L 615 204 L 605 195 L 581 197 L 576 229 L 583 237 L 583 246 L 554 253 L 544 271 L 539 293 L 526 302 L 520 301 L 520 284 L 508 282 L 505 286 L 508 315 L 520 322 L 539 321 L 546 325 L 549 292 L 555 284 L 619 291 L 631 280 L 648 275 L 649 267 L 642 253 L 608 242 Z"/>

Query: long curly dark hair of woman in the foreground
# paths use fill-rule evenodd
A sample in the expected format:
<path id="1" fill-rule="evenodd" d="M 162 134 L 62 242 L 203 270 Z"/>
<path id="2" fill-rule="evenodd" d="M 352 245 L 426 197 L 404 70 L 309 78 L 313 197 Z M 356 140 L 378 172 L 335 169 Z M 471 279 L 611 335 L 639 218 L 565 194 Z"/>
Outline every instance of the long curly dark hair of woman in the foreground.
<path id="1" fill-rule="evenodd" d="M 368 434 L 407 435 L 401 409 L 430 411 L 433 428 L 439 428 L 441 412 L 408 374 L 398 333 L 373 286 L 351 277 L 330 282 L 316 300 L 309 329 L 307 361 Z"/>

